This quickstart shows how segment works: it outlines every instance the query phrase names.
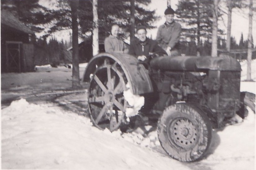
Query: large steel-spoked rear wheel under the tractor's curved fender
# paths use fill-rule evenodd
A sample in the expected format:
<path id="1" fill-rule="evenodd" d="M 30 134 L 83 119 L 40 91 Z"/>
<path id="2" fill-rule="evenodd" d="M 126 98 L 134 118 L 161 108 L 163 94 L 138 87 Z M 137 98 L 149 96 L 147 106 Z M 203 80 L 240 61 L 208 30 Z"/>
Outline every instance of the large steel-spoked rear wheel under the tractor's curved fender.
<path id="1" fill-rule="evenodd" d="M 127 107 L 123 95 L 126 83 L 121 67 L 109 59 L 92 75 L 88 105 L 92 123 L 97 128 L 108 128 L 112 132 L 121 125 Z"/>

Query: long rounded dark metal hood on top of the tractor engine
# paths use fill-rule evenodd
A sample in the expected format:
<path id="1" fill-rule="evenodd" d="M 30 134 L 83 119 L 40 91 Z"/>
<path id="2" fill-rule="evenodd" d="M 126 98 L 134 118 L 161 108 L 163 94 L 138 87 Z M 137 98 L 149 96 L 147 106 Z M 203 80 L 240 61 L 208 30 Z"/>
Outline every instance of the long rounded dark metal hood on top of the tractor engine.
<path id="1" fill-rule="evenodd" d="M 226 70 L 241 71 L 240 63 L 232 57 L 196 57 L 176 56 L 157 57 L 152 59 L 150 65 L 156 70 L 165 71 L 200 71 L 200 70 Z"/>

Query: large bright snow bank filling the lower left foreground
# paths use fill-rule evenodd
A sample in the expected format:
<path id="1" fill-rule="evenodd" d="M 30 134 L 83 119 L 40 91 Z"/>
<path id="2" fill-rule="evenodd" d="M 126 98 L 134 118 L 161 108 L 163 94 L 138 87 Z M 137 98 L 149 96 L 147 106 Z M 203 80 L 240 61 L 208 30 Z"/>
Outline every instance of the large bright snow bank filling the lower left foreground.
<path id="1" fill-rule="evenodd" d="M 98 130 L 87 117 L 21 99 L 2 109 L 2 168 L 187 169 L 120 134 Z"/>

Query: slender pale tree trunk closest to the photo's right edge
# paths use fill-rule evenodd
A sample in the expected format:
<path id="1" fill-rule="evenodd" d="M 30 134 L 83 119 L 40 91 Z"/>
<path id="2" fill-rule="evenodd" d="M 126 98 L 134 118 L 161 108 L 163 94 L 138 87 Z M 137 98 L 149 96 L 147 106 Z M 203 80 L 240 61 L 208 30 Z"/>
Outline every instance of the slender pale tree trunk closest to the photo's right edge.
<path id="1" fill-rule="evenodd" d="M 250 3 L 249 3 L 249 32 L 248 32 L 247 75 L 246 75 L 246 79 L 247 80 L 251 80 L 252 25 L 253 25 L 253 0 L 250 0 Z"/>

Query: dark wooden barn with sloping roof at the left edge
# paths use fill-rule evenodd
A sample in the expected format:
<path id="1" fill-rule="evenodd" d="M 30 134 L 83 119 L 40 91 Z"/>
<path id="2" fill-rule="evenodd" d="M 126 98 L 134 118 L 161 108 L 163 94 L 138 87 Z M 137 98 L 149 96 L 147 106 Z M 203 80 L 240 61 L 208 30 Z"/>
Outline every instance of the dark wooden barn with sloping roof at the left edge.
<path id="1" fill-rule="evenodd" d="M 11 12 L 1 10 L 1 72 L 34 71 L 34 32 Z"/>

